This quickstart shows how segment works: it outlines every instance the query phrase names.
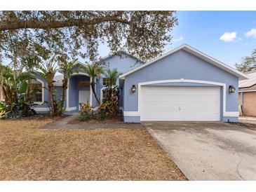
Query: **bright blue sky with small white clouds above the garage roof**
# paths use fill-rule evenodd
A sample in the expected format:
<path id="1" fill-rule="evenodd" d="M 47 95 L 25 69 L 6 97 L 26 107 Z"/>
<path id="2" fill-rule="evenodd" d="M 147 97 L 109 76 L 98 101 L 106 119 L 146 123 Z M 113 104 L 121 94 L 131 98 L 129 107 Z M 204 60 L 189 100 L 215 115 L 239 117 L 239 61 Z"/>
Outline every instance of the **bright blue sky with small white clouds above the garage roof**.
<path id="1" fill-rule="evenodd" d="M 176 16 L 179 24 L 165 51 L 187 43 L 234 67 L 256 48 L 256 11 L 177 11 Z M 100 55 L 108 51 L 102 46 Z"/>

